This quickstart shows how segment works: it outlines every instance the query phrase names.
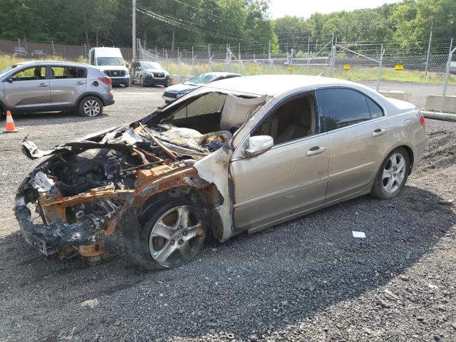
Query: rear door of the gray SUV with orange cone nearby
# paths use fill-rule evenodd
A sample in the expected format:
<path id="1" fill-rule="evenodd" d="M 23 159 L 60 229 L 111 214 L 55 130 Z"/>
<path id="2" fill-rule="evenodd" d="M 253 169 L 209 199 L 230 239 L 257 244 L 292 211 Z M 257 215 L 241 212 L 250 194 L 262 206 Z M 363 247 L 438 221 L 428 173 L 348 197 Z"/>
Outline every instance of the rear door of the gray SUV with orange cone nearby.
<path id="1" fill-rule="evenodd" d="M 55 107 L 71 107 L 86 91 L 87 69 L 76 66 L 49 66 L 51 101 Z"/>

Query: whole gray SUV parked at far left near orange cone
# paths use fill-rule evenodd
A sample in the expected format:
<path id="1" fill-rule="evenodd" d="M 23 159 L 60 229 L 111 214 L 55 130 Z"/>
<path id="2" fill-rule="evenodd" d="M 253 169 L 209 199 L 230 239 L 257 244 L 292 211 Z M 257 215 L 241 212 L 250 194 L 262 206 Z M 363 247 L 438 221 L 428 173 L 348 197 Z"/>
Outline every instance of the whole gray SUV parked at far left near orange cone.
<path id="1" fill-rule="evenodd" d="M 97 116 L 112 105 L 112 81 L 98 68 L 82 63 L 32 61 L 0 71 L 0 115 L 76 111 Z"/>

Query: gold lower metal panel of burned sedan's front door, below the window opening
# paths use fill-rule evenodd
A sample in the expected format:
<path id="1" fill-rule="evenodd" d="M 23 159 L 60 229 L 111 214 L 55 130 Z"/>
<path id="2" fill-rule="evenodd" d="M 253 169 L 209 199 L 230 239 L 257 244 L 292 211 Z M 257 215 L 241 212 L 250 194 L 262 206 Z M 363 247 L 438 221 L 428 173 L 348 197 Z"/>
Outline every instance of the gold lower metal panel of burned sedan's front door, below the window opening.
<path id="1" fill-rule="evenodd" d="M 329 150 L 306 155 L 316 146 L 327 147 L 328 136 L 294 140 L 231 162 L 236 229 L 252 229 L 323 204 Z"/>

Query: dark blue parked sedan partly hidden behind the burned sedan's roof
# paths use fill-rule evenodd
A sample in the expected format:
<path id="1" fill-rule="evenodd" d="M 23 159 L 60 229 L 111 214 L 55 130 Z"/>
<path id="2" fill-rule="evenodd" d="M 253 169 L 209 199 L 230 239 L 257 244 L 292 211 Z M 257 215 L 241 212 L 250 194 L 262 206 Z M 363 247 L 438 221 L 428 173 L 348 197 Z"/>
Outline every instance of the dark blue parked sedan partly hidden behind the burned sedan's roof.
<path id="1" fill-rule="evenodd" d="M 165 99 L 165 103 L 172 103 L 172 101 L 175 101 L 177 98 L 182 98 L 183 95 L 190 93 L 190 91 L 195 90 L 200 86 L 204 86 L 204 84 L 239 76 L 242 75 L 239 75 L 239 73 L 222 72 L 203 73 L 199 76 L 189 78 L 184 83 L 170 86 L 165 90 L 165 93 L 163 93 L 163 98 Z"/>

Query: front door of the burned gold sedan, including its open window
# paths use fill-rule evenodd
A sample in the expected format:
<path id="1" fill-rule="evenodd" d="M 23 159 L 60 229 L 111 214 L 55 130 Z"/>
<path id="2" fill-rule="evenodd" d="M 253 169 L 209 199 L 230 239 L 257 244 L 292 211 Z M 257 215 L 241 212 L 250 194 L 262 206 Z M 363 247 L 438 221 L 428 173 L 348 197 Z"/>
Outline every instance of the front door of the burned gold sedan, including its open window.
<path id="1" fill-rule="evenodd" d="M 317 133 L 313 92 L 293 95 L 271 109 L 251 135 L 270 135 L 274 147 L 257 157 L 235 154 L 230 163 L 234 226 L 261 228 L 323 204 L 329 145 Z M 239 150 L 238 150 L 239 151 Z"/>

